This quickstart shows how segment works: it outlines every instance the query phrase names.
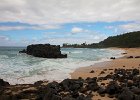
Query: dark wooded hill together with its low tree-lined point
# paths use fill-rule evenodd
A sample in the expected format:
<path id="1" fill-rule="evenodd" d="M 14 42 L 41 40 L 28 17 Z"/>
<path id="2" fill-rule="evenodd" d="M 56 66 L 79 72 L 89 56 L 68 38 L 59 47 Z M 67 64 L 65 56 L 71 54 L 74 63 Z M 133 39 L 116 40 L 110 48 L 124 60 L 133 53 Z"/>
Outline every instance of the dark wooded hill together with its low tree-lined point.
<path id="1" fill-rule="evenodd" d="M 110 36 L 99 43 L 63 44 L 63 47 L 74 47 L 74 48 L 140 47 L 140 31 L 129 32 L 117 36 Z"/>

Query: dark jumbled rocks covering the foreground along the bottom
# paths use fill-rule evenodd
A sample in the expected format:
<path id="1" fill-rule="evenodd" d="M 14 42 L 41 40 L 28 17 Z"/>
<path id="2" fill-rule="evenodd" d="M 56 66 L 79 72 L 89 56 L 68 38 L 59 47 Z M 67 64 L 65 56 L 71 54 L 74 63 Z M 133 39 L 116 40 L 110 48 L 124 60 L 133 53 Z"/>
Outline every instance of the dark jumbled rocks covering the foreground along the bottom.
<path id="1" fill-rule="evenodd" d="M 101 74 L 107 70 L 111 69 L 104 69 Z M 105 80 L 109 82 L 104 83 Z M 115 69 L 105 77 L 79 77 L 60 83 L 38 81 L 10 85 L 0 79 L 0 100 L 94 100 L 94 93 L 112 100 L 140 100 L 139 69 Z"/>

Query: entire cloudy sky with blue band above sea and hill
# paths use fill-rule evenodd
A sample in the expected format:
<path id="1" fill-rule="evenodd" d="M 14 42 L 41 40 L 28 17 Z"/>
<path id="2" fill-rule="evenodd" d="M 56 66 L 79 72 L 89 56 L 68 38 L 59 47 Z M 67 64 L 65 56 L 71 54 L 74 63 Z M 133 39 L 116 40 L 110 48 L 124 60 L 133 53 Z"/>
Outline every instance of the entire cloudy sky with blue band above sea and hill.
<path id="1" fill-rule="evenodd" d="M 140 30 L 140 0 L 0 0 L 0 46 L 97 43 Z"/>

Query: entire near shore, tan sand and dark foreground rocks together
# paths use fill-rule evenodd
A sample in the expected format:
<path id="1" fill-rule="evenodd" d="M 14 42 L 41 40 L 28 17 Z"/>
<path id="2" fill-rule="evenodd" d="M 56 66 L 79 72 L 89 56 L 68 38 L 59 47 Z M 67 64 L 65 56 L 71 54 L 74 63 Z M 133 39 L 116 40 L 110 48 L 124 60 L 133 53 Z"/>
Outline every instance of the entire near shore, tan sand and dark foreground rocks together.
<path id="1" fill-rule="evenodd" d="M 140 100 L 140 48 L 124 50 L 123 57 L 81 67 L 62 82 L 10 85 L 0 79 L 0 100 Z"/>

